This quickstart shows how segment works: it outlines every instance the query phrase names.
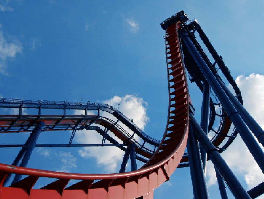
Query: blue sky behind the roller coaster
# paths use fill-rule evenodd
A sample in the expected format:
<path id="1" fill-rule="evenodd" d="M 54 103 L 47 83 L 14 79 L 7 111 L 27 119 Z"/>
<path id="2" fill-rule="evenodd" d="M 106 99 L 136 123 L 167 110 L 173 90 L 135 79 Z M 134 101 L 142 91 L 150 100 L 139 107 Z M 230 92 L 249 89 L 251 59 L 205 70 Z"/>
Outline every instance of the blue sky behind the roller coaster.
<path id="1" fill-rule="evenodd" d="M 264 110 L 264 97 L 258 92 L 264 82 L 263 1 L 20 0 L 0 1 L 0 4 L 0 95 L 4 98 L 80 101 L 82 97 L 85 101 L 108 102 L 114 106 L 120 101 L 125 114 L 131 113 L 138 122 L 145 121 L 140 123 L 145 133 L 161 139 L 167 120 L 168 84 L 164 31 L 159 23 L 184 10 L 190 19 L 199 21 L 232 76 L 239 76 L 238 85 L 248 97 L 245 106 L 253 117 L 263 121 L 258 116 Z M 258 92 L 259 100 L 251 98 L 250 90 L 253 94 Z M 199 116 L 201 93 L 195 85 L 190 84 L 190 95 Z M 126 104 L 132 104 L 134 112 Z M 70 133 L 43 133 L 37 143 L 54 140 L 68 143 Z M 0 136 L 3 143 L 23 143 L 28 134 Z M 77 136 L 74 142 L 78 138 L 83 137 Z M 238 149 L 239 143 L 238 139 L 233 148 Z M 3 163 L 12 163 L 17 151 L 1 149 L 0 159 Z M 91 156 L 91 151 L 88 153 L 81 153 L 77 148 L 35 149 L 28 166 L 104 172 L 107 162 L 100 166 L 97 157 Z M 243 169 L 230 156 L 225 157 L 246 190 L 263 181 L 262 173 L 250 177 L 257 168 Z M 65 162 L 67 168 L 62 166 Z M 210 179 L 213 181 L 213 177 Z M 41 180 L 36 186 L 44 185 L 41 183 L 45 179 Z M 154 198 L 162 198 L 164 194 L 168 198 L 192 198 L 188 168 L 177 169 L 171 181 L 154 191 Z M 209 196 L 220 198 L 216 184 L 209 186 Z"/>

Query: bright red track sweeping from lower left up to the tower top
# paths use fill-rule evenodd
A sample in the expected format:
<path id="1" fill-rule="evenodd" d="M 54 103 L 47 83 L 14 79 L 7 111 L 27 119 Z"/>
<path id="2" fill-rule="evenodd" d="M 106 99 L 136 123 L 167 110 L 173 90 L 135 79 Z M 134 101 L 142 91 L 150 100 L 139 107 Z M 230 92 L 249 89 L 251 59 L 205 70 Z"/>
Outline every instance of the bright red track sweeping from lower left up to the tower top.
<path id="1" fill-rule="evenodd" d="M 167 64 L 171 82 L 167 127 L 161 145 L 142 168 L 125 173 L 76 174 L 0 164 L 0 198 L 153 198 L 153 190 L 169 180 L 177 168 L 187 143 L 189 95 L 177 29 L 178 24 L 174 24 L 166 31 L 166 54 L 170 54 L 167 58 L 171 59 Z M 10 187 L 3 187 L 9 173 L 28 177 Z M 60 179 L 40 189 L 32 189 L 39 177 Z M 65 188 L 71 179 L 82 181 Z M 98 179 L 100 181 L 93 183 Z"/>

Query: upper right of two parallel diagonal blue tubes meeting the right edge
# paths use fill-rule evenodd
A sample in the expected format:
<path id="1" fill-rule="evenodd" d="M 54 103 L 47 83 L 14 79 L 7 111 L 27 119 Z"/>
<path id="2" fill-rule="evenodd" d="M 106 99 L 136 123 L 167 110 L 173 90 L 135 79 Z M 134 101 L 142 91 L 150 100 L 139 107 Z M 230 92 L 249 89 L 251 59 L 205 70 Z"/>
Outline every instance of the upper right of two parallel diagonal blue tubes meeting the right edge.
<path id="1" fill-rule="evenodd" d="M 220 77 L 216 76 L 220 86 L 223 88 L 224 92 L 229 97 L 230 101 L 233 103 L 234 107 L 239 111 L 242 119 L 252 131 L 252 133 L 257 137 L 258 141 L 264 146 L 264 131 L 260 125 L 254 120 L 254 118 L 247 112 L 247 110 L 242 106 L 242 104 L 235 98 L 235 96 L 229 91 L 225 84 L 221 81 Z M 254 96 L 252 96 L 254 97 Z M 259 99 L 261 100 L 261 99 Z"/>

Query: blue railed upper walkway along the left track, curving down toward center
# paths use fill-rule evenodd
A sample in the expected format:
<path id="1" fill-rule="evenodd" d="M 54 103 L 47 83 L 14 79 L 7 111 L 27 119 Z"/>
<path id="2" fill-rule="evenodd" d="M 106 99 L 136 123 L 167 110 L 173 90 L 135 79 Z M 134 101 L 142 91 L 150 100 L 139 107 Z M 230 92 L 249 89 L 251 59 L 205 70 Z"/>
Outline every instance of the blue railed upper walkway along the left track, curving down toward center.
<path id="1" fill-rule="evenodd" d="M 135 125 L 129 118 L 127 118 L 124 114 L 122 114 L 118 109 L 115 107 L 112 107 L 107 104 L 102 103 L 91 103 L 91 102 L 66 102 L 66 101 L 43 101 L 43 100 L 18 100 L 18 99 L 0 99 L 0 108 L 34 108 L 39 110 L 39 118 L 37 120 L 33 121 L 33 123 L 27 123 L 26 128 L 23 126 L 21 128 L 18 128 L 16 131 L 17 133 L 20 131 L 26 131 L 28 130 L 36 121 L 39 121 L 41 114 L 41 109 L 60 109 L 64 111 L 64 115 L 57 120 L 57 123 L 53 124 L 53 126 L 50 125 L 50 127 L 46 128 L 45 130 L 49 129 L 56 129 L 56 126 L 59 123 L 62 123 L 63 120 L 66 117 L 66 110 L 93 110 L 93 111 L 105 111 L 107 113 L 112 114 L 115 118 L 117 118 L 120 122 L 122 122 L 124 125 L 129 127 L 135 134 L 137 134 L 140 138 L 143 140 L 146 140 L 148 143 L 159 146 L 160 141 L 156 140 L 150 136 L 148 136 L 146 133 L 144 133 L 137 125 Z M 21 111 L 22 112 L 22 111 Z M 21 120 L 21 115 L 19 115 L 15 121 L 10 123 L 10 125 L 1 125 L 0 133 L 1 132 L 9 132 L 12 131 L 12 127 L 16 125 Z M 6 118 L 5 118 L 6 119 Z M 83 116 L 83 121 L 86 120 L 86 116 Z M 5 120 L 3 120 L 5 121 Z M 80 120 L 82 121 L 82 120 Z M 80 122 L 78 121 L 78 122 Z M 83 122 L 82 121 L 82 122 Z M 78 122 L 76 125 L 79 125 Z M 26 123 L 25 123 L 26 125 Z M 67 129 L 72 129 L 72 126 L 68 126 Z M 59 130 L 59 129 L 57 129 Z"/>

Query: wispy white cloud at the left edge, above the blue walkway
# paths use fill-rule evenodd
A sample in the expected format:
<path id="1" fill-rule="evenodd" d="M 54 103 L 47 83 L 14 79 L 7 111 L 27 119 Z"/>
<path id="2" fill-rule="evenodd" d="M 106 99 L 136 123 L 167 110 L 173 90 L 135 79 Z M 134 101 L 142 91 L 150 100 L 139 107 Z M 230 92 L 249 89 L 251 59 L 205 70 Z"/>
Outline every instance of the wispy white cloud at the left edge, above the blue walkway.
<path id="1" fill-rule="evenodd" d="M 17 39 L 11 42 L 6 41 L 3 33 L 0 32 L 0 73 L 8 75 L 5 62 L 8 57 L 13 58 L 17 53 L 22 52 L 22 44 Z"/>

